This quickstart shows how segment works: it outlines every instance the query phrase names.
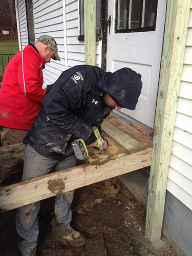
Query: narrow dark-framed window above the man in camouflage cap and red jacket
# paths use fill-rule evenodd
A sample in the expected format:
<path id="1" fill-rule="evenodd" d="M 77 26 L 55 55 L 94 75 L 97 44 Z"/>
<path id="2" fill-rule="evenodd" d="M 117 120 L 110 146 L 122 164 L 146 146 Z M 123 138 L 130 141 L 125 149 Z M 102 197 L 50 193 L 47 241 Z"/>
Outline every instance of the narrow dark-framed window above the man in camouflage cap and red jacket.
<path id="1" fill-rule="evenodd" d="M 35 30 L 33 19 L 33 1 L 26 0 L 28 43 L 35 44 Z"/>

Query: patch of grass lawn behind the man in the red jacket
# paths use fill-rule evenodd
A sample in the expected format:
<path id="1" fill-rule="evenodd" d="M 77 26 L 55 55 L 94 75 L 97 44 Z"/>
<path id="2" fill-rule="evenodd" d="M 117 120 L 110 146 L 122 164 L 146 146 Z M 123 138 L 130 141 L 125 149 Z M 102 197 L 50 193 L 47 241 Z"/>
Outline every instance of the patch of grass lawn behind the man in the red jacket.
<path id="1" fill-rule="evenodd" d="M 17 35 L 4 35 L 0 37 L 0 78 L 3 76 L 8 61 L 19 51 Z M 6 54 L 5 56 L 2 54 Z M 8 56 L 12 54 L 12 56 Z M 1 80 L 1 79 L 0 79 Z"/>

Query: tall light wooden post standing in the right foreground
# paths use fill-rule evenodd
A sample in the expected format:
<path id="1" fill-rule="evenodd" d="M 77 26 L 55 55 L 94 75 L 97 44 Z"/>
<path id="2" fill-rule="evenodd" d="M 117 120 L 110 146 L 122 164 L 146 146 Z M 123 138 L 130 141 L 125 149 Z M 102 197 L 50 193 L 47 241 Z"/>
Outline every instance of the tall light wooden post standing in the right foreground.
<path id="1" fill-rule="evenodd" d="M 145 237 L 160 240 L 191 0 L 167 0 Z"/>

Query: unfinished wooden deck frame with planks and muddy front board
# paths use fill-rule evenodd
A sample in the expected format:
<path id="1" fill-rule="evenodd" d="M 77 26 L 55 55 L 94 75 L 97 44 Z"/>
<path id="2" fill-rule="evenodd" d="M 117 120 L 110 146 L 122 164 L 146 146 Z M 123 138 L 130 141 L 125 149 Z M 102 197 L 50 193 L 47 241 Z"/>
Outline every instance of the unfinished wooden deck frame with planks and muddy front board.
<path id="1" fill-rule="evenodd" d="M 0 189 L 0 212 L 150 166 L 153 140 L 121 119 L 109 116 L 102 124 L 109 148 L 104 155 L 89 148 L 88 163 Z M 1 163 L 23 158 L 24 145 L 0 147 Z M 9 157 L 8 157 L 9 154 Z"/>

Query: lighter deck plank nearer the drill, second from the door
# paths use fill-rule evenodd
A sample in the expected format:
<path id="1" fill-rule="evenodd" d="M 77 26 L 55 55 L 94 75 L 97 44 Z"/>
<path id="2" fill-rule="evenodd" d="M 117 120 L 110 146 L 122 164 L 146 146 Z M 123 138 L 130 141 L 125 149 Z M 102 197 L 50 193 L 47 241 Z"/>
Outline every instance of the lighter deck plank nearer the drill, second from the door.
<path id="1" fill-rule="evenodd" d="M 118 127 L 104 120 L 101 124 L 102 131 L 125 148 L 129 153 L 138 152 L 146 148 L 131 136 L 125 134 Z"/>

